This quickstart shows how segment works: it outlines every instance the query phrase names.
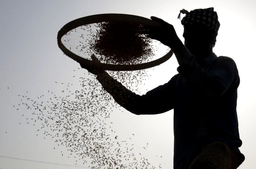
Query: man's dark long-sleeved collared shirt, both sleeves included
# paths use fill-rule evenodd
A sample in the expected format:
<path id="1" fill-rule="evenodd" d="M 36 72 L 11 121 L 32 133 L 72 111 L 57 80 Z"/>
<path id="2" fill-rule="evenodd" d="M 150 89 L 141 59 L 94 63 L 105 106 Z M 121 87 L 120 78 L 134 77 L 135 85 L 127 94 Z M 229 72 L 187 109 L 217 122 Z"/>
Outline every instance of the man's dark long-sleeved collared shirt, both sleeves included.
<path id="1" fill-rule="evenodd" d="M 174 53 L 178 74 L 169 82 L 138 95 L 108 73 L 97 76 L 114 100 L 136 115 L 174 110 L 174 169 L 184 169 L 204 145 L 223 142 L 238 153 L 237 166 L 245 160 L 239 147 L 237 88 L 240 78 L 236 63 L 212 53 L 202 63 L 183 46 Z"/>

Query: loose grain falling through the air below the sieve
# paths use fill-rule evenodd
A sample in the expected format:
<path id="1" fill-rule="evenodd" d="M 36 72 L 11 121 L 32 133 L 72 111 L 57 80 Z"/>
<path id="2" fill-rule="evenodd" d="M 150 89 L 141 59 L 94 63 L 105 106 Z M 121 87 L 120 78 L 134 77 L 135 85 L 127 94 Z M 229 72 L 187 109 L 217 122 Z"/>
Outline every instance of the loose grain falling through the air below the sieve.
<path id="1" fill-rule="evenodd" d="M 28 96 L 29 93 L 18 95 L 21 102 L 14 109 L 25 107 L 20 116 L 26 125 L 37 124 L 35 127 L 38 127 L 41 123 L 40 128 L 36 129 L 38 134 L 54 141 L 55 151 L 57 146 L 59 150 L 64 148 L 65 152 L 61 151 L 60 155 L 73 157 L 75 165 L 82 162 L 92 169 L 155 169 L 147 158 L 134 152 L 132 139 L 129 142 L 120 140 L 112 128 L 110 114 L 115 109 L 120 110 L 112 96 L 102 88 L 93 74 L 82 72 L 79 78 L 79 71 L 74 71 L 73 82 L 53 82 L 60 85 L 59 91 L 47 90 L 37 98 Z M 146 71 L 109 71 L 109 74 L 127 89 L 140 94 L 138 85 L 148 78 Z M 26 113 L 29 112 L 33 118 L 27 117 Z"/>

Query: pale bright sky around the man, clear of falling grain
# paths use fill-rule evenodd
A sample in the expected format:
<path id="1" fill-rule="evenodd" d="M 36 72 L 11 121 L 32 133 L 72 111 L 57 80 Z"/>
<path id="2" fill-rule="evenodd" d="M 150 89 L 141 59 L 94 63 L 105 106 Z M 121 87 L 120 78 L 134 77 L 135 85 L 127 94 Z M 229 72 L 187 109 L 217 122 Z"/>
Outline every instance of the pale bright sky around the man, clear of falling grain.
<path id="1" fill-rule="evenodd" d="M 0 2 L 0 156 L 65 165 L 83 165 L 68 158 L 65 147 L 57 146 L 50 138 L 44 139 L 41 123 L 27 124 L 31 112 L 16 111 L 18 95 L 31 99 L 47 94 L 48 90 L 61 95 L 60 83 L 78 84 L 73 70 L 79 64 L 63 55 L 57 46 L 57 33 L 63 25 L 74 19 L 100 13 L 125 13 L 150 18 L 157 16 L 174 25 L 182 42 L 183 27 L 177 19 L 181 9 L 214 7 L 221 27 L 213 51 L 217 56 L 234 59 L 241 83 L 238 88 L 237 114 L 241 152 L 245 161 L 240 169 L 256 168 L 255 164 L 255 12 L 254 0 L 45 0 Z M 184 15 L 181 15 L 181 18 Z M 156 67 L 151 77 L 140 86 L 141 94 L 151 90 L 177 74 L 178 63 L 173 56 Z M 87 71 L 79 71 L 79 75 Z M 55 83 L 59 82 L 59 83 Z M 79 84 L 78 84 L 79 85 Z M 9 87 L 9 89 L 8 89 Z M 64 87 L 65 88 L 65 87 Z M 73 90 L 76 90 L 73 87 Z M 28 93 L 26 93 L 28 91 Z M 121 109 L 122 110 L 122 109 Z M 160 115 L 136 116 L 126 110 L 115 109 L 110 115 L 112 129 L 118 139 L 134 144 L 136 156 L 148 158 L 154 166 L 173 168 L 173 110 Z M 22 117 L 22 114 L 24 116 Z M 34 116 L 33 116 L 34 117 Z M 21 124 L 19 124 L 21 123 Z M 38 135 L 37 135 L 38 134 Z M 134 134 L 134 136 L 132 135 Z M 112 135 L 114 137 L 115 135 Z M 132 139 L 129 140 L 129 138 Z M 147 146 L 144 149 L 143 147 Z M 55 149 L 54 149 L 55 148 Z M 63 151 L 63 153 L 61 153 Z M 62 154 L 64 154 L 62 156 Z M 157 157 L 156 157 L 157 156 Z M 162 156 L 162 157 L 161 157 Z M 0 157 L 0 169 L 76 169 L 73 166 L 44 164 Z"/>

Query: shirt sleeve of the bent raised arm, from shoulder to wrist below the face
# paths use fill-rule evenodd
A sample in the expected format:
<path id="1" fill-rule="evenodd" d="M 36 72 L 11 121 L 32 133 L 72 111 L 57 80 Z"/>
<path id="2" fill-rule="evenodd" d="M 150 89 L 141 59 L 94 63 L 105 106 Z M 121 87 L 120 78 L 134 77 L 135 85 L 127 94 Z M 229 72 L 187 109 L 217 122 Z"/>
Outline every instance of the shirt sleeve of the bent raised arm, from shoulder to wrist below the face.
<path id="1" fill-rule="evenodd" d="M 238 71 L 233 59 L 219 56 L 208 73 L 196 63 L 195 56 L 183 47 L 179 53 L 174 53 L 179 63 L 177 71 L 187 80 L 202 99 L 216 99 L 221 97 L 231 86 L 234 80 L 238 81 Z"/>

